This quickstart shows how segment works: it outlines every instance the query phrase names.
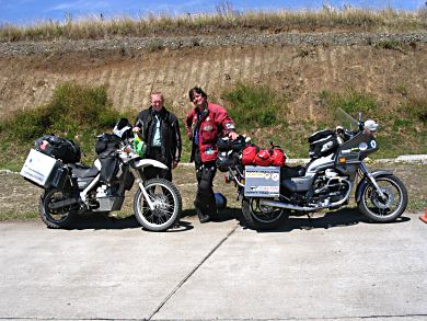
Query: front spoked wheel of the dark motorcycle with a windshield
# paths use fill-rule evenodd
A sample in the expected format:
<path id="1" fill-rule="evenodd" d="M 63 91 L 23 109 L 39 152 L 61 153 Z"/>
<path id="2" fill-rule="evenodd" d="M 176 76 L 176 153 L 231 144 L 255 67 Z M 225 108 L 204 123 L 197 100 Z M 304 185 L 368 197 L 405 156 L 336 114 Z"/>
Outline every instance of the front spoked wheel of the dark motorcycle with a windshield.
<path id="1" fill-rule="evenodd" d="M 359 210 L 374 222 L 389 222 L 399 218 L 407 206 L 407 192 L 405 185 L 394 175 L 376 177 L 384 197 L 377 188 L 367 184 L 361 191 L 358 203 Z"/>

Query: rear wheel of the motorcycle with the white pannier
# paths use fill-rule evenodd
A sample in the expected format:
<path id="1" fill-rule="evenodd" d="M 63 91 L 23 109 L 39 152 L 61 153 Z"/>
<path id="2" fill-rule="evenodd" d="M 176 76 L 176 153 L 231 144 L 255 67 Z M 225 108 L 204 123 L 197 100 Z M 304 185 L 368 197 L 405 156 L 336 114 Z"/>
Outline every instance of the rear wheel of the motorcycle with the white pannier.
<path id="1" fill-rule="evenodd" d="M 60 202 L 72 197 L 57 188 L 46 191 L 39 202 L 38 214 L 43 222 L 53 229 L 69 227 L 76 218 L 72 205 L 60 206 Z"/>

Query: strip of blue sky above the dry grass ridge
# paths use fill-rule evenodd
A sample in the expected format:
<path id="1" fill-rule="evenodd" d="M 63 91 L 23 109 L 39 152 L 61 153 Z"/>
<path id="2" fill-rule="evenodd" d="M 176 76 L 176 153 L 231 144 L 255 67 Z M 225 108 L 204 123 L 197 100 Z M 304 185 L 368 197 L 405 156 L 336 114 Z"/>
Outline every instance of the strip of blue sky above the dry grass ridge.
<path id="1" fill-rule="evenodd" d="M 73 19 L 96 15 L 104 16 L 143 16 L 148 13 L 166 13 L 178 15 L 184 13 L 216 12 L 216 4 L 221 0 L 0 0 L 0 23 L 31 24 L 53 19 L 64 21 L 66 14 Z M 222 1 L 223 2 L 223 1 Z M 392 7 L 403 10 L 417 10 L 426 0 L 230 0 L 234 10 L 299 10 L 319 9 L 323 3 L 342 8 L 345 4 L 358 8 L 381 9 Z"/>

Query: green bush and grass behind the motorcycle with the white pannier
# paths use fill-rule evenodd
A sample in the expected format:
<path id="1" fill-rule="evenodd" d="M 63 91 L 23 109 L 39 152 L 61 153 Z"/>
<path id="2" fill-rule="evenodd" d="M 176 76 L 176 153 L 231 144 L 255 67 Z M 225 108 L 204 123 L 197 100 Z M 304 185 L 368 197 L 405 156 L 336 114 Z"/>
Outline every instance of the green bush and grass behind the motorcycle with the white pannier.
<path id="1" fill-rule="evenodd" d="M 105 87 L 62 83 L 46 105 L 19 111 L 0 122 L 0 168 L 19 170 L 34 140 L 47 134 L 74 140 L 82 149 L 82 161 L 90 163 L 96 135 L 111 131 L 122 116 L 113 108 Z"/>

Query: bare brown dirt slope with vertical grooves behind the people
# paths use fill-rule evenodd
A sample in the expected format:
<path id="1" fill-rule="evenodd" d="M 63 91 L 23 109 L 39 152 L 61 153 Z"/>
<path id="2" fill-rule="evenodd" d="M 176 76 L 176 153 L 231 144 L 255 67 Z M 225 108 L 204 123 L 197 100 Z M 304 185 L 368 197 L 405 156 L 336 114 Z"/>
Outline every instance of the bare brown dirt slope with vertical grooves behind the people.
<path id="1" fill-rule="evenodd" d="M 339 39 L 339 35 L 335 37 Z M 25 48 L 25 44 L 20 46 Z M 236 81 L 269 84 L 290 96 L 291 115 L 296 118 L 321 114 L 316 102 L 322 90 L 366 90 L 380 96 L 384 105 L 393 106 L 402 99 L 396 88 L 404 85 L 415 95 L 425 94 L 427 89 L 424 41 L 403 44 L 399 49 L 384 49 L 369 39 L 341 44 L 311 38 L 305 43 L 254 45 L 246 42 L 204 46 L 193 42 L 181 48 L 138 48 L 125 39 L 109 47 L 57 47 L 1 54 L 0 117 L 46 103 L 53 89 L 66 80 L 106 84 L 118 110 L 147 106 L 149 93 L 160 90 L 181 117 L 189 108 L 187 91 L 196 84 L 214 96 Z"/>

